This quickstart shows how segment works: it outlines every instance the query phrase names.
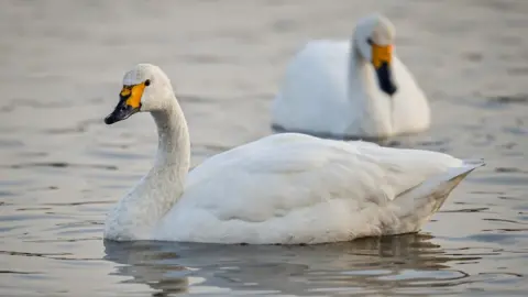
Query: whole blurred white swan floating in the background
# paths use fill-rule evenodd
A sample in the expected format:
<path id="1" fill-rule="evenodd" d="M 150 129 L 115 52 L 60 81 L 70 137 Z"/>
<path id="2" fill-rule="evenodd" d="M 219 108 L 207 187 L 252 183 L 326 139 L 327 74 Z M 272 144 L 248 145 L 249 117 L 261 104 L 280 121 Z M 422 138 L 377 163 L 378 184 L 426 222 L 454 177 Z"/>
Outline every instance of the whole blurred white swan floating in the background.
<path id="1" fill-rule="evenodd" d="M 425 131 L 422 90 L 393 51 L 382 14 L 361 19 L 349 41 L 311 41 L 288 64 L 273 100 L 272 125 L 336 139 L 386 139 Z"/>

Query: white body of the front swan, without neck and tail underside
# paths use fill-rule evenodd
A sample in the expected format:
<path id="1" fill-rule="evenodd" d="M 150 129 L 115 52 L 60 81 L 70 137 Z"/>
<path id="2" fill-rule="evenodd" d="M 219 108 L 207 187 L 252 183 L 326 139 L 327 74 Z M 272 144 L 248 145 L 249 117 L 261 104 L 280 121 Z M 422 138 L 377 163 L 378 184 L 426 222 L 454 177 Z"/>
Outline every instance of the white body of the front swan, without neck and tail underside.
<path id="1" fill-rule="evenodd" d="M 182 199 L 153 237 L 316 243 L 381 235 L 397 226 L 417 230 L 432 213 L 403 211 L 397 197 L 462 164 L 435 152 L 276 134 L 215 155 L 190 172 Z M 398 215 L 414 210 L 419 219 L 399 224 Z"/>

